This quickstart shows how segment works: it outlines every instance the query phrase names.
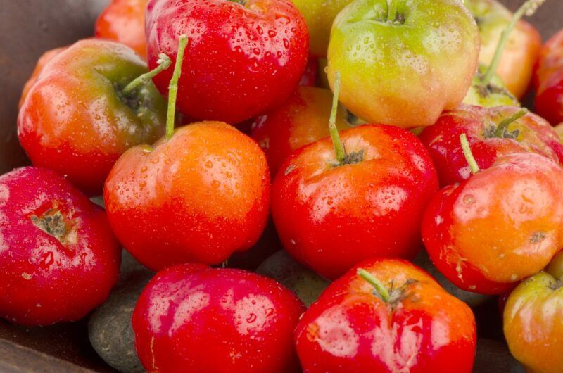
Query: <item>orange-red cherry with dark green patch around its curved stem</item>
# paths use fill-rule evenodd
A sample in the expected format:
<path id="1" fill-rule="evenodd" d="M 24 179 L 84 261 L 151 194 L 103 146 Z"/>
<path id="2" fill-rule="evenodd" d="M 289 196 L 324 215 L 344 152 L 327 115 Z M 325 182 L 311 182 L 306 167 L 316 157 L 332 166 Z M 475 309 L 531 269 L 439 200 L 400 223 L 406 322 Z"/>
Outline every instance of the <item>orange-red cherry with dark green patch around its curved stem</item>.
<path id="1" fill-rule="evenodd" d="M 132 49 L 82 40 L 42 70 L 18 115 L 18 139 L 36 166 L 99 195 L 127 148 L 164 134 L 165 101 L 151 82 L 124 93 L 147 72 Z"/>

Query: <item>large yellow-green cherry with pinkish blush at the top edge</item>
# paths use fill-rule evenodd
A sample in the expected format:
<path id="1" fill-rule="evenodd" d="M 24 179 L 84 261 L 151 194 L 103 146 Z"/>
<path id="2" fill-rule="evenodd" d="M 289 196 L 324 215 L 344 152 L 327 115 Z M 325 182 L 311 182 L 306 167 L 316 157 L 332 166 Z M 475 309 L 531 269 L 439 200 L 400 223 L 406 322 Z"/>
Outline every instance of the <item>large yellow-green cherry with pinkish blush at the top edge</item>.
<path id="1" fill-rule="evenodd" d="M 462 102 L 478 57 L 479 30 L 460 1 L 355 1 L 334 20 L 329 82 L 341 72 L 341 102 L 362 120 L 429 126 Z"/>

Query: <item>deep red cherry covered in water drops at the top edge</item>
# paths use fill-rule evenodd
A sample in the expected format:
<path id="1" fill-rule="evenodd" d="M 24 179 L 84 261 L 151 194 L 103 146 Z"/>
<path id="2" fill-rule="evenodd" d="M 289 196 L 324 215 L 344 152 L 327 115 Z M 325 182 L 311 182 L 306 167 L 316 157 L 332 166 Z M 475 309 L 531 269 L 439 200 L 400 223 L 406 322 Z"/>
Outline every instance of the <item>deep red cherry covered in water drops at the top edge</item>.
<path id="1" fill-rule="evenodd" d="M 151 68 L 188 36 L 177 108 L 196 120 L 236 124 L 271 110 L 297 87 L 308 58 L 307 26 L 289 0 L 152 0 L 146 34 Z M 161 92 L 170 77 L 154 79 Z"/>

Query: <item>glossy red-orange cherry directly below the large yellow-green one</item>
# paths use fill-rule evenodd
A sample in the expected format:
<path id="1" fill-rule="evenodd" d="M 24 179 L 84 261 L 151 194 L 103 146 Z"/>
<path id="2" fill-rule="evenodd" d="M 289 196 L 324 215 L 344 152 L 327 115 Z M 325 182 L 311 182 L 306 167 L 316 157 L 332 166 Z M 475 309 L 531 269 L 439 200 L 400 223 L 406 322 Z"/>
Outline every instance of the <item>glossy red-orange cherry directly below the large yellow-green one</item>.
<path id="1" fill-rule="evenodd" d="M 341 140 L 342 164 L 322 139 L 292 153 L 272 185 L 282 244 L 329 279 L 367 258 L 415 258 L 422 213 L 438 189 L 428 152 L 405 129 L 362 125 Z"/>

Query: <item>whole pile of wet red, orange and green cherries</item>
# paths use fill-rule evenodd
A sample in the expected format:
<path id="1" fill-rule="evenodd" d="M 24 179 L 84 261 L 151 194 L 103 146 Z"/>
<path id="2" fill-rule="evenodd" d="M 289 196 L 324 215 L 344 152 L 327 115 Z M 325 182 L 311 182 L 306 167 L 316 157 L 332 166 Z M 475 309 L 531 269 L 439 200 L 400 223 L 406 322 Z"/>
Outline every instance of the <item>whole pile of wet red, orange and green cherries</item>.
<path id="1" fill-rule="evenodd" d="M 514 357 L 563 372 L 563 31 L 521 20 L 542 3 L 114 0 L 23 89 L 0 317 L 80 320 L 123 247 L 156 271 L 148 372 L 472 372 L 445 282 L 505 295 Z M 232 268 L 270 215 L 320 296 Z"/>

